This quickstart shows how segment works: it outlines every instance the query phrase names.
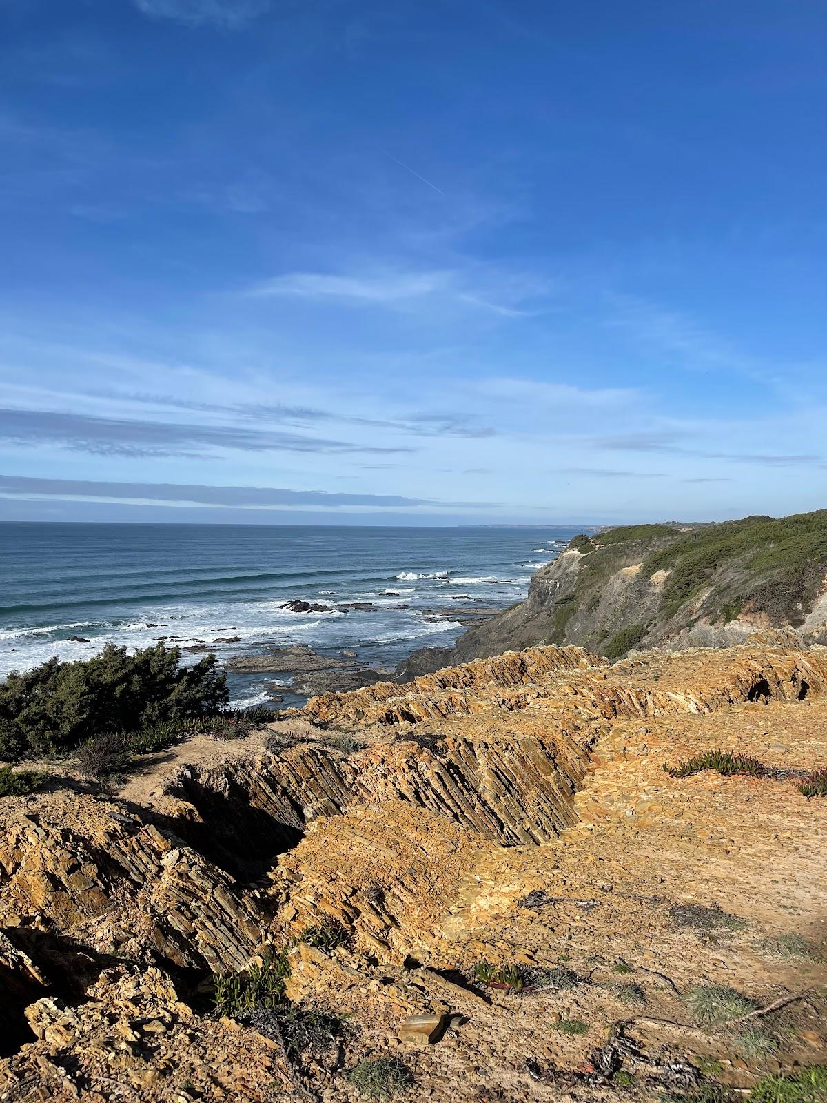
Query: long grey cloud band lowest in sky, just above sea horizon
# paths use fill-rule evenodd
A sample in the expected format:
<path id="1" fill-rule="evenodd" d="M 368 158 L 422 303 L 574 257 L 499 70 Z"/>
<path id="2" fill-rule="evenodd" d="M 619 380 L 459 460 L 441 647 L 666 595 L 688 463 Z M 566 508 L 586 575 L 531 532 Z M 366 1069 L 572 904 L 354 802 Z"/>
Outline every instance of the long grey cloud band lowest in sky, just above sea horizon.
<path id="1" fill-rule="evenodd" d="M 399 494 L 299 491 L 277 486 L 204 486 L 182 483 L 103 482 L 0 475 L 0 496 L 25 497 L 32 495 L 257 510 L 284 506 L 490 508 L 500 504 L 497 502 L 441 502 L 434 499 L 405 497 Z"/>

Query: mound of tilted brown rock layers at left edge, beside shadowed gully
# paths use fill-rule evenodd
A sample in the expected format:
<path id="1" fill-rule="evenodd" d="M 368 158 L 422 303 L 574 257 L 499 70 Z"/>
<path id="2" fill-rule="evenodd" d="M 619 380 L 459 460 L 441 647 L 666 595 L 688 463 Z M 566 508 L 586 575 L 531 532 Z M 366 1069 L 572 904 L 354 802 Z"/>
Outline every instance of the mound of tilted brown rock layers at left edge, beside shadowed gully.
<path id="1" fill-rule="evenodd" d="M 32 797 L 0 831 L 0 923 L 66 930 L 117 915 L 123 941 L 172 964 L 241 968 L 261 941 L 254 901 L 180 838 L 90 797 Z"/>

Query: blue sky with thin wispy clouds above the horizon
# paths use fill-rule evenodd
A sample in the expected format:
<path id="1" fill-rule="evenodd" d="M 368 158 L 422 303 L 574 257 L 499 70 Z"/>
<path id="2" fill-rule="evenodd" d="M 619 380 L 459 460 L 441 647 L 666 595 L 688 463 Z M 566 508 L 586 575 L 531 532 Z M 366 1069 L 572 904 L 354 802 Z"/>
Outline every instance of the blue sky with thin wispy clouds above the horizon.
<path id="1" fill-rule="evenodd" d="M 821 0 L 2 0 L 0 517 L 827 505 Z"/>

